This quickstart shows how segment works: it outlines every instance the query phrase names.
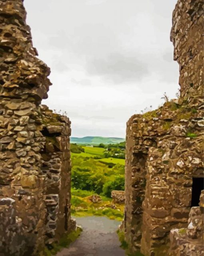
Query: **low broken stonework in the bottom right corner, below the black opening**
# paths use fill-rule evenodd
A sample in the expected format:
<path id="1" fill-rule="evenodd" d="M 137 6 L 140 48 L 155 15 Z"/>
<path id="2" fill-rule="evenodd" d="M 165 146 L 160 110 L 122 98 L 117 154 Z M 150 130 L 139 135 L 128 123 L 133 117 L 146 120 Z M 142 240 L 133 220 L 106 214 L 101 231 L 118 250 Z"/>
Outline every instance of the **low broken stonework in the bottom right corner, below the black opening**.
<path id="1" fill-rule="evenodd" d="M 170 256 L 204 256 L 204 190 L 200 197 L 200 207 L 192 207 L 188 227 L 173 229 L 170 232 Z"/>

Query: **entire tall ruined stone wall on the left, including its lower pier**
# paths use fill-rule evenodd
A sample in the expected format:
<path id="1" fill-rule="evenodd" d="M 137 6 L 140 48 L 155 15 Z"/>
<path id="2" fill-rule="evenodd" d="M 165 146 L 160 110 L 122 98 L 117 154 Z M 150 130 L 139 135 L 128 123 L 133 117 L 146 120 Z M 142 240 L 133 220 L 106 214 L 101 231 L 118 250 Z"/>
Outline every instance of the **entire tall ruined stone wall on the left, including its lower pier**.
<path id="1" fill-rule="evenodd" d="M 0 256 L 38 255 L 75 227 L 70 121 L 40 105 L 50 69 L 25 20 L 22 0 L 0 0 Z"/>

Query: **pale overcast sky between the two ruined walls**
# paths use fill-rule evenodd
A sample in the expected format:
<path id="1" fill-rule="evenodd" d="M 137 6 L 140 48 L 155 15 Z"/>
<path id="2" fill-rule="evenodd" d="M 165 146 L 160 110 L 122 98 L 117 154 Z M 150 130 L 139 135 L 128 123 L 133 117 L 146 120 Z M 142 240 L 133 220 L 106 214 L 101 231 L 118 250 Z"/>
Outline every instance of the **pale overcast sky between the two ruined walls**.
<path id="1" fill-rule="evenodd" d="M 175 98 L 170 42 L 177 0 L 24 0 L 33 44 L 51 68 L 43 101 L 66 111 L 72 136 L 125 137 L 126 121 L 163 93 Z"/>

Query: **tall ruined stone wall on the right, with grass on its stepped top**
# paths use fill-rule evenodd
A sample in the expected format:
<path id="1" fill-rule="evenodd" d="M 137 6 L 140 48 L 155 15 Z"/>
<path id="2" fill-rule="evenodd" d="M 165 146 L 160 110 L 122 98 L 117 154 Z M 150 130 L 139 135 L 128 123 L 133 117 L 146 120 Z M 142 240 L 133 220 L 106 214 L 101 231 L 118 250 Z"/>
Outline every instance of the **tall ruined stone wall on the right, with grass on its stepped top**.
<path id="1" fill-rule="evenodd" d="M 127 123 L 123 227 L 145 256 L 168 254 L 170 230 L 188 223 L 192 178 L 203 177 L 203 1 L 178 0 L 172 25 L 180 97 Z"/>

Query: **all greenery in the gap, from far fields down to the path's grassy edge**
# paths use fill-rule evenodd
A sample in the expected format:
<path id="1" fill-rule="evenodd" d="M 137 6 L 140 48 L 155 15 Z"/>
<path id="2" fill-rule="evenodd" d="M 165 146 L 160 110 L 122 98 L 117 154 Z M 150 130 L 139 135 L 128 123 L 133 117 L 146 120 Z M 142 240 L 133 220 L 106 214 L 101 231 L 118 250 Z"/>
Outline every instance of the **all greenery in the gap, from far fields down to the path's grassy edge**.
<path id="1" fill-rule="evenodd" d="M 77 150 L 76 146 L 78 147 Z M 72 147 L 73 148 L 73 147 Z M 83 151 L 82 151 L 83 149 Z M 107 157 L 106 152 L 124 152 L 125 143 L 102 147 L 78 146 L 72 151 L 72 208 L 75 216 L 107 216 L 122 221 L 124 205 L 112 204 L 111 191 L 124 190 L 124 159 Z M 116 149 L 116 151 L 114 151 Z M 80 153 L 75 153 L 76 151 Z M 114 154 L 114 153 L 113 153 Z M 108 155 L 109 156 L 109 155 Z M 100 195 L 93 203 L 91 195 Z"/>

